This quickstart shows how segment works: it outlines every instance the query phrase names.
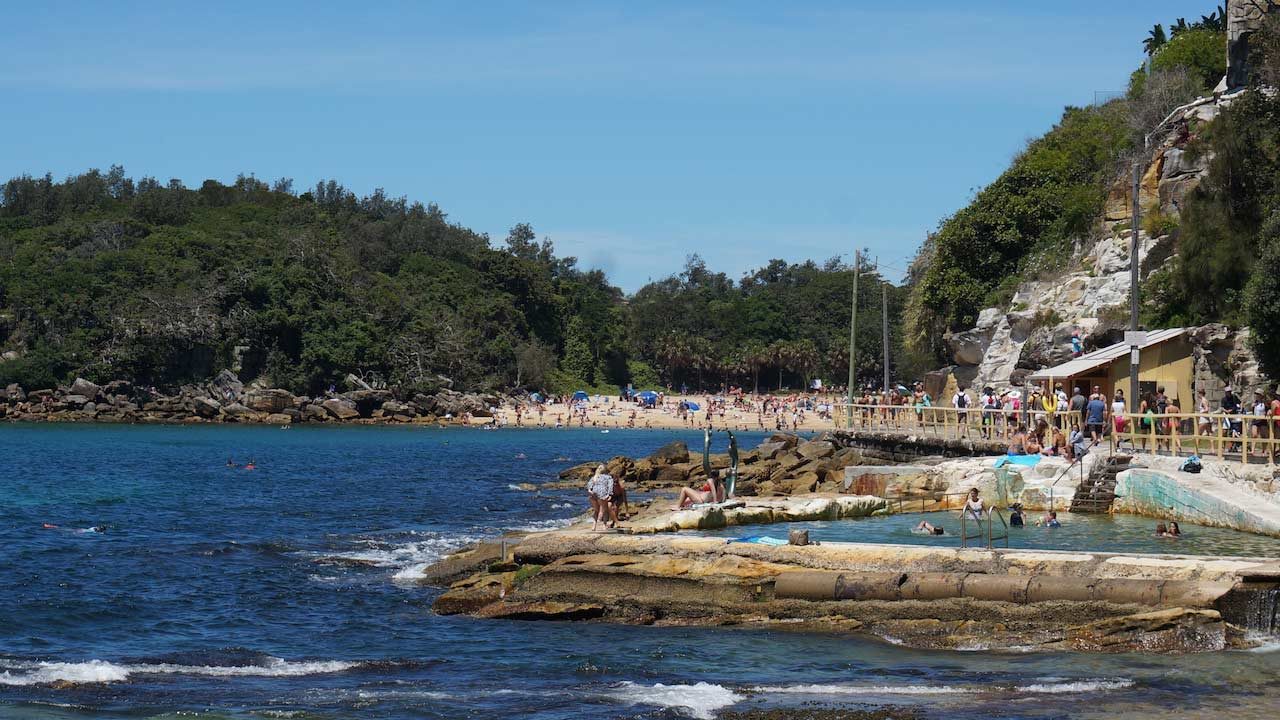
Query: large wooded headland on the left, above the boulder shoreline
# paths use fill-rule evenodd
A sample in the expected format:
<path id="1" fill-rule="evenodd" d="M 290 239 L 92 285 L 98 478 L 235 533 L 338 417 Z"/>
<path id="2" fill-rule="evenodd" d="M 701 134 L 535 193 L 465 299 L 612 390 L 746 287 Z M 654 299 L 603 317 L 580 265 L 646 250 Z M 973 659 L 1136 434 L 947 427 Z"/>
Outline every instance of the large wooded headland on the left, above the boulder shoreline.
<path id="1" fill-rule="evenodd" d="M 137 183 L 113 168 L 15 178 L 0 206 L 0 380 L 72 374 L 172 387 L 242 365 L 315 392 L 347 373 L 408 388 L 515 380 L 531 342 L 558 348 L 567 311 L 599 354 L 621 295 L 600 273 L 507 250 L 434 205 L 334 182 L 301 197 L 241 177 Z"/>

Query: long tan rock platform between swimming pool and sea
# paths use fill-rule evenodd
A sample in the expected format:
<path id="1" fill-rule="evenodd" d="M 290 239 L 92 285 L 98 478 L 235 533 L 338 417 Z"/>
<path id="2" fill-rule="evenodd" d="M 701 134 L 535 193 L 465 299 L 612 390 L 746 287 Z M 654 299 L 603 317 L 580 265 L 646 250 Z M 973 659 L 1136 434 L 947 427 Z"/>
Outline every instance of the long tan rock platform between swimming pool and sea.
<path id="1" fill-rule="evenodd" d="M 509 561 L 476 570 L 436 612 L 859 632 L 923 648 L 1240 647 L 1260 602 L 1280 593 L 1280 562 L 1267 559 L 774 547 L 579 528 L 527 536 Z"/>

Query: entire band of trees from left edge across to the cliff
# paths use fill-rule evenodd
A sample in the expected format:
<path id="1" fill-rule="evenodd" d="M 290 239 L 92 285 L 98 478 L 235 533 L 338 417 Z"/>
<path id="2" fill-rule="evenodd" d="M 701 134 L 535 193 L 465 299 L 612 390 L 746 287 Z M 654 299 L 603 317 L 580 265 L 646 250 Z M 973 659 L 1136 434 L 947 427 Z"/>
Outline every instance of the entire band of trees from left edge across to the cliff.
<path id="1" fill-rule="evenodd" d="M 627 302 L 529 225 L 494 247 L 434 205 L 289 186 L 189 190 L 120 168 L 5 183 L 0 384 L 173 388 L 223 368 L 308 393 L 348 373 L 404 391 L 845 377 L 838 263 L 773 261 L 735 283 L 691 260 Z M 859 365 L 878 377 L 878 278 L 863 288 Z M 897 327 L 897 291 L 891 304 Z"/>

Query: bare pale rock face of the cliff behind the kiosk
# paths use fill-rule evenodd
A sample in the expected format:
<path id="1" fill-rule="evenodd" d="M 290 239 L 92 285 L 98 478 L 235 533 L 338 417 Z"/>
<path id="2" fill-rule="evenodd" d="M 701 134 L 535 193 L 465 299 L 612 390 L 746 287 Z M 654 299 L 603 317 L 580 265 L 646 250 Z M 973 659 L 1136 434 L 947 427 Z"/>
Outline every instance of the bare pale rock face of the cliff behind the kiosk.
<path id="1" fill-rule="evenodd" d="M 1187 195 L 1208 172 L 1211 158 L 1188 149 L 1230 96 L 1204 97 L 1179 109 L 1152 136 L 1152 160 L 1139 183 L 1143 217 L 1138 234 L 1139 278 L 1146 281 L 1176 252 L 1176 219 Z M 956 382 L 970 387 L 1020 386 L 1034 370 L 1065 363 L 1071 336 L 1079 333 L 1085 351 L 1123 340 L 1129 324 L 1132 181 L 1110 188 L 1103 218 L 1093 237 L 1080 243 L 1062 273 L 1024 281 L 1005 307 L 984 309 L 975 327 L 947 333 L 948 360 Z M 1197 383 L 1213 388 L 1234 382 L 1265 382 L 1243 340 L 1247 331 L 1210 325 L 1192 333 L 1197 354 Z"/>

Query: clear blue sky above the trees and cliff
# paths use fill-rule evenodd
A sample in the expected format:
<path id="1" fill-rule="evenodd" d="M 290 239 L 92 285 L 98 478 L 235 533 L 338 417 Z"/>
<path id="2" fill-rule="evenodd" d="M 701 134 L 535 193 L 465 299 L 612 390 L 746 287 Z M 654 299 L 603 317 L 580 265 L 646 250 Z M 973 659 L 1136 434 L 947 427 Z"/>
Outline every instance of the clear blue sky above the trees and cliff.
<path id="1" fill-rule="evenodd" d="M 518 222 L 623 290 L 905 266 L 1064 105 L 1208 0 L 12 3 L 0 174 L 337 178 Z"/>

